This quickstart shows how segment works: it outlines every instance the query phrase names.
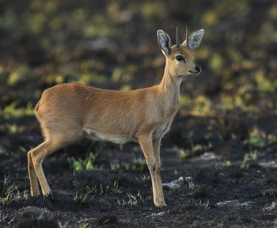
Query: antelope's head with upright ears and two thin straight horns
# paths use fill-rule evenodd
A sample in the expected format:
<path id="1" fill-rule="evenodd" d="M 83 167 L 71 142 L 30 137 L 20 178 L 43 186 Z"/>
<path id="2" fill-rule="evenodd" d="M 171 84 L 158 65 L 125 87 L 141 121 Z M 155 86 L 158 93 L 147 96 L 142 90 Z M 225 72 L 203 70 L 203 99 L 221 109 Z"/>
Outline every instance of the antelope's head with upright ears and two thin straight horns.
<path id="1" fill-rule="evenodd" d="M 186 29 L 186 40 L 180 43 L 176 28 L 176 44 L 172 46 L 169 35 L 163 30 L 157 31 L 159 46 L 166 56 L 166 67 L 170 76 L 182 78 L 200 73 L 201 67 L 195 62 L 193 51 L 200 45 L 203 35 L 204 30 L 201 29 L 188 36 Z"/>

